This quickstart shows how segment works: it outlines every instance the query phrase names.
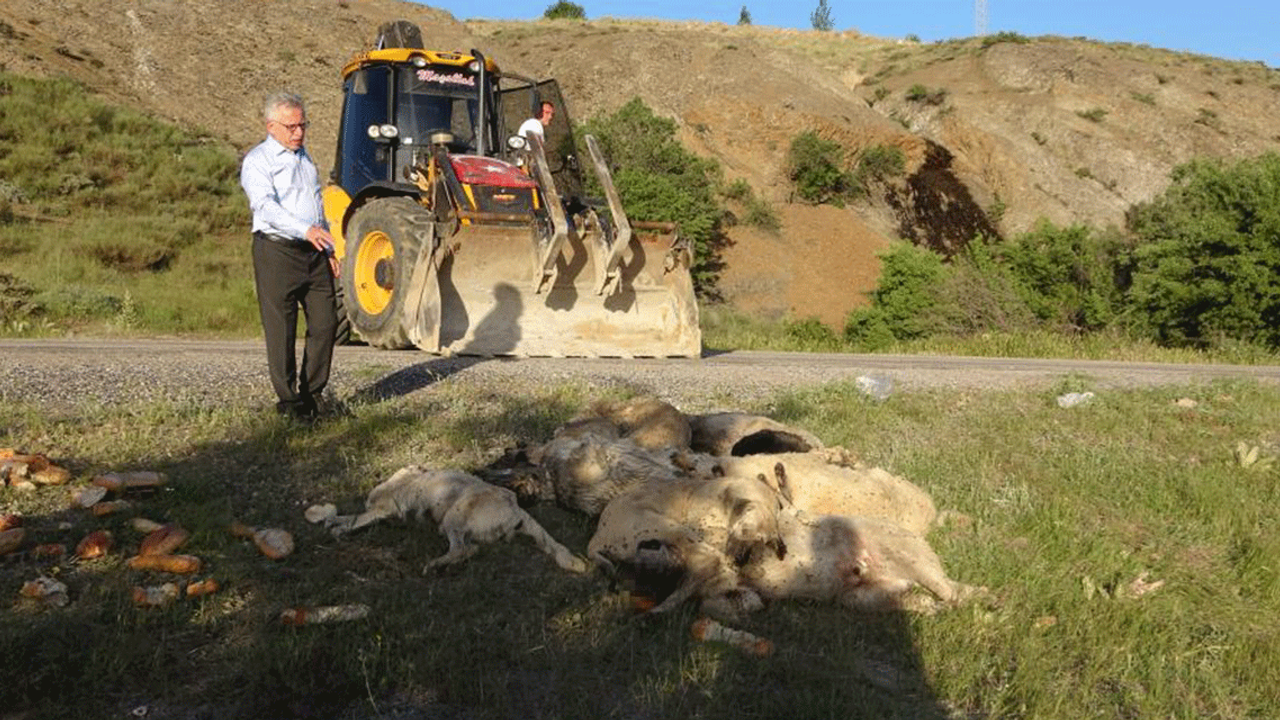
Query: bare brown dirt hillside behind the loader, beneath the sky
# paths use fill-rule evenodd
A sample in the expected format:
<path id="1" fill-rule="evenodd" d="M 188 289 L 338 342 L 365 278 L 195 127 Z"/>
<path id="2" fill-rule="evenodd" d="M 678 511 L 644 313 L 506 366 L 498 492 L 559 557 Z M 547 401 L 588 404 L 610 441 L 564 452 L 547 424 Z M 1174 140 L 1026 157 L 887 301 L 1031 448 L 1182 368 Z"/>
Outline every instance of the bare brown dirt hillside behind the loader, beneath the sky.
<path id="1" fill-rule="evenodd" d="M 769 316 L 838 325 L 893 238 L 954 249 L 1039 218 L 1121 224 L 1194 156 L 1280 150 L 1280 72 L 1125 44 L 993 36 L 940 44 L 662 22 L 467 22 L 396 0 L 5 0 L 0 65 L 69 76 L 113 101 L 244 150 L 259 102 L 310 101 L 308 143 L 332 164 L 342 64 L 388 19 L 428 45 L 477 47 L 557 77 L 571 117 L 640 96 L 681 140 L 745 178 L 783 219 L 735 228 L 722 288 Z M 924 91 L 923 95 L 920 91 Z M 850 155 L 893 145 L 908 176 L 846 209 L 792 202 L 791 138 L 813 129 Z"/>

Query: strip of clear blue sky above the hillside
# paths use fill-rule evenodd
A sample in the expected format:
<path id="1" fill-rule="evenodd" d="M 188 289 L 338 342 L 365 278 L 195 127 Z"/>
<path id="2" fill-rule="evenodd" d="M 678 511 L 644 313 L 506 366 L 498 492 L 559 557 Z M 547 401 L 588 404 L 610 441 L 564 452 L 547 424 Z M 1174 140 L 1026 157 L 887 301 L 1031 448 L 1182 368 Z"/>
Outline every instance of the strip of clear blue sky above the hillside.
<path id="1" fill-rule="evenodd" d="M 460 20 L 543 15 L 556 0 L 428 0 Z M 737 23 L 745 5 L 756 26 L 812 29 L 818 0 L 573 0 L 589 19 L 652 18 Z M 978 0 L 827 0 L 835 29 L 878 37 L 914 35 L 923 41 L 977 35 Z M 1280 68 L 1277 0 L 986 0 L 987 32 L 1083 36 Z M 1270 19 L 1268 19 L 1270 18 Z"/>

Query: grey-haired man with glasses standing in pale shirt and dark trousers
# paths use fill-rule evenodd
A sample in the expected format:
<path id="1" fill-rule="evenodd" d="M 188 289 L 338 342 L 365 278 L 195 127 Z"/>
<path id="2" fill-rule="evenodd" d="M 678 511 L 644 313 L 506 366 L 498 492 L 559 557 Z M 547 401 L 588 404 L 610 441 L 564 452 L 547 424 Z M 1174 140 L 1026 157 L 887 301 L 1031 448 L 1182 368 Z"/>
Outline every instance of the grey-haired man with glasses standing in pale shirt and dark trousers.
<path id="1" fill-rule="evenodd" d="M 315 419 L 329 383 L 338 314 L 338 260 L 320 202 L 320 174 L 303 141 L 302 99 L 280 92 L 262 109 L 266 140 L 244 155 L 241 186 L 253 213 L 253 281 L 276 411 Z M 302 372 L 294 359 L 298 306 L 306 318 Z"/>

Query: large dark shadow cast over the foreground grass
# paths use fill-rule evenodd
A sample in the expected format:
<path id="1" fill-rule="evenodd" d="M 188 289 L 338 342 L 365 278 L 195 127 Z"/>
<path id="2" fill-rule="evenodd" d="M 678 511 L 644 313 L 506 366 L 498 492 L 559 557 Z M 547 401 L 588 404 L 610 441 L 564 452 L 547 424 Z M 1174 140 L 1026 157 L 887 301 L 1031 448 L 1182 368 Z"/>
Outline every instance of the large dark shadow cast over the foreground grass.
<path id="1" fill-rule="evenodd" d="M 433 360 L 357 393 L 402 396 L 479 360 Z M 435 402 L 439 402 L 436 400 Z M 36 539 L 110 529 L 104 560 L 40 561 L 29 553 L 0 564 L 0 592 L 24 579 L 63 577 L 64 609 L 8 612 L 0 619 L 3 717 L 155 719 L 739 719 L 914 717 L 947 712 L 927 682 L 911 620 L 856 615 L 808 603 L 777 603 L 739 626 L 771 639 L 758 659 L 690 635 L 695 611 L 636 615 L 599 574 L 559 570 L 531 543 L 485 547 L 465 565 L 424 575 L 447 543 L 430 521 L 389 521 L 342 541 L 308 525 L 302 510 L 333 501 L 343 511 L 384 479 L 388 459 L 424 436 L 485 432 L 549 437 L 577 409 L 512 393 L 442 418 L 430 410 L 353 402 L 348 416 L 300 425 L 253 418 L 218 439 L 157 446 L 140 466 L 163 470 L 164 492 L 137 497 L 131 515 L 192 530 L 183 552 L 200 556 L 200 577 L 221 588 L 168 607 L 137 607 L 134 585 L 186 578 L 137 573 L 123 560 L 141 536 L 128 518 L 63 512 L 28 518 Z M 108 411 L 110 413 L 110 411 Z M 91 424 L 138 427 L 146 419 Z M 189 416 L 163 423 L 209 421 Z M 68 420 L 65 432 L 96 432 Z M 169 428 L 170 430 L 173 428 Z M 458 441 L 465 442 L 465 441 Z M 108 451 L 102 451 L 104 454 Z M 448 464 L 452 456 L 422 457 Z M 90 471 L 118 461 L 69 459 Z M 125 468 L 120 468 L 125 469 Z M 0 491 L 3 492 L 3 491 Z M 8 502 L 12 496 L 4 496 Z M 531 514 L 581 552 L 593 520 L 554 506 Z M 232 521 L 293 533 L 297 550 L 269 560 L 232 536 Z M 288 607 L 360 603 L 365 619 L 288 626 Z"/>

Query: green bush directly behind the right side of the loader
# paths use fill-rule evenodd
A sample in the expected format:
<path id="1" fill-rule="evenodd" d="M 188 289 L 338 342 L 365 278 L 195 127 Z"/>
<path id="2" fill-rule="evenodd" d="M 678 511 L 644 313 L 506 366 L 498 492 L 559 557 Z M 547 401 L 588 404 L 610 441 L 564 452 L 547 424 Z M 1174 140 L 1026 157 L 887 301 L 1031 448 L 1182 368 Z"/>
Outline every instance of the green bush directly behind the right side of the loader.
<path id="1" fill-rule="evenodd" d="M 719 250 L 724 245 L 724 209 L 716 197 L 721 168 L 686 150 L 676 140 L 676 122 L 658 117 L 639 97 L 607 117 L 582 124 L 594 135 L 612 167 L 622 205 L 632 220 L 680 223 L 694 246 L 694 284 L 704 297 L 716 295 Z M 580 155 L 588 156 L 586 151 Z"/>

